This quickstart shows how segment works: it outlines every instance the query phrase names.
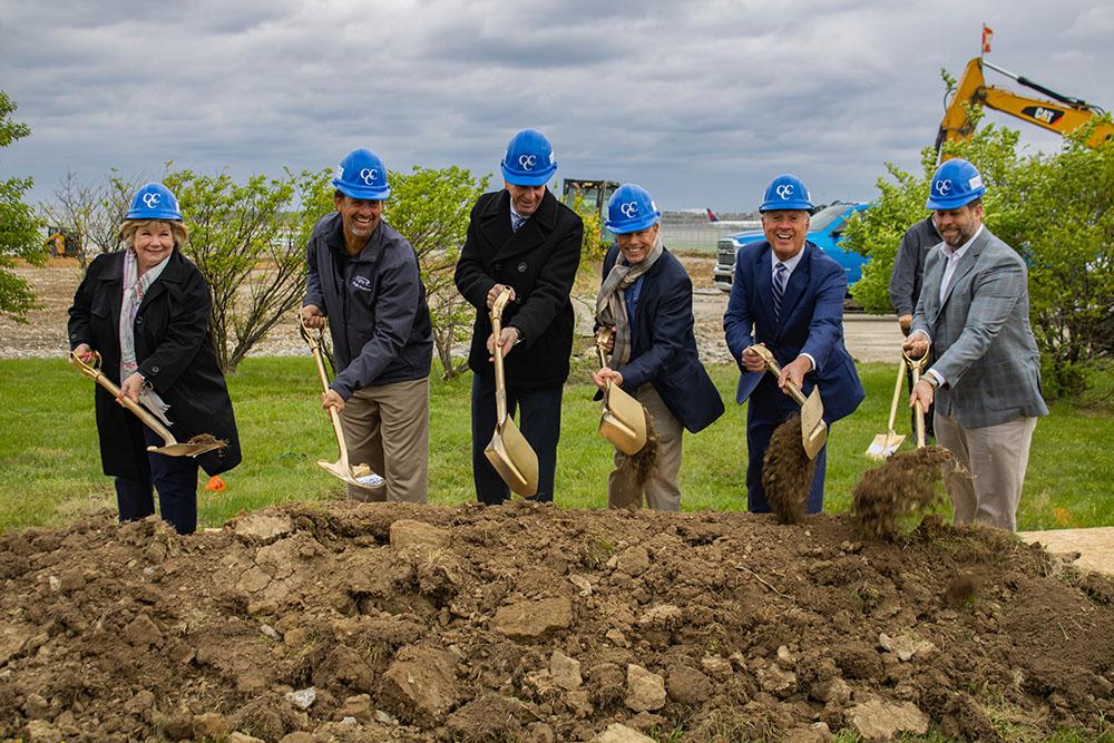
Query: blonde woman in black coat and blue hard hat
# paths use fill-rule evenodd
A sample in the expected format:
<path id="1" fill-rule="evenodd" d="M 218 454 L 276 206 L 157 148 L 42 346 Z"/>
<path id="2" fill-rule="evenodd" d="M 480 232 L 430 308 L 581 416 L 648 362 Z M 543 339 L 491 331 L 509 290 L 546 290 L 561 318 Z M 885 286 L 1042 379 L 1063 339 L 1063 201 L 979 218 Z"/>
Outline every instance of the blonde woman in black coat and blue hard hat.
<path id="1" fill-rule="evenodd" d="M 143 404 L 178 441 L 208 433 L 227 446 L 199 457 L 148 452 L 163 440 L 96 388 L 105 475 L 116 478 L 121 521 L 155 512 L 178 534 L 197 528 L 197 469 L 209 475 L 240 463 L 232 400 L 209 334 L 208 285 L 182 255 L 178 201 L 159 183 L 136 193 L 120 225 L 126 247 L 97 256 L 69 310 L 69 342 L 81 361 L 99 354 L 120 395 Z"/>

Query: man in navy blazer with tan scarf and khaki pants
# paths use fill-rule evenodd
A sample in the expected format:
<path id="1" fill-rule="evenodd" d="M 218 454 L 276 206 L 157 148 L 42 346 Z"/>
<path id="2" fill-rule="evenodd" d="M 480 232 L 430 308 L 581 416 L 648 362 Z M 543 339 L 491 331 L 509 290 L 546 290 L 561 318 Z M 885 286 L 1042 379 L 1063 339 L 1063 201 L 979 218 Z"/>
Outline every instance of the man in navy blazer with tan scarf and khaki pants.
<path id="1" fill-rule="evenodd" d="M 642 186 L 624 184 L 607 204 L 615 244 L 604 258 L 596 295 L 597 326 L 614 330 L 610 363 L 593 375 L 604 390 L 618 384 L 649 412 L 658 436 L 654 470 L 639 492 L 626 487 L 626 456 L 615 450 L 607 505 L 681 509 L 683 428 L 693 433 L 723 414 L 720 392 L 700 362 L 693 332 L 693 285 L 684 266 L 662 244 L 661 213 Z"/>

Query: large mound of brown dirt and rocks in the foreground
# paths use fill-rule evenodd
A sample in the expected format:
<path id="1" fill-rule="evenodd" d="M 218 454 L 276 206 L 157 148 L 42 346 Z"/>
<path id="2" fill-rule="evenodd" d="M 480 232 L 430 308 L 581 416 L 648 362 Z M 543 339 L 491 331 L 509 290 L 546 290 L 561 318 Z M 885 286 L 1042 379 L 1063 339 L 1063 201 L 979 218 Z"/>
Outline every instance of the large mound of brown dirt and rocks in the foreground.
<path id="1" fill-rule="evenodd" d="M 827 515 L 528 502 L 9 534 L 0 737 L 1108 732 L 1110 579 L 996 530 L 854 534 Z"/>

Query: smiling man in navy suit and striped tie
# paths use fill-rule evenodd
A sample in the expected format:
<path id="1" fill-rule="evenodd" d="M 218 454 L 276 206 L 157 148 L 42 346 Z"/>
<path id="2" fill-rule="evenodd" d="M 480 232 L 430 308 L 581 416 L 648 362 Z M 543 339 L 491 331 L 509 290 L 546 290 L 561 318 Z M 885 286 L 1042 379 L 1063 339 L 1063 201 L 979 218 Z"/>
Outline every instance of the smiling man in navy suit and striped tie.
<path id="1" fill-rule="evenodd" d="M 746 410 L 746 507 L 766 512 L 770 502 L 762 489 L 762 458 L 770 436 L 799 410 L 782 390 L 794 382 L 808 395 L 820 388 L 824 421 L 831 430 L 866 393 L 854 362 L 843 345 L 843 297 L 847 278 L 836 261 L 805 239 L 809 192 L 799 178 L 783 174 L 766 188 L 759 209 L 765 241 L 745 245 L 735 256 L 731 299 L 723 315 L 727 349 L 742 375 L 735 399 L 750 400 Z M 765 363 L 750 346 L 770 349 L 781 364 L 781 378 L 765 372 Z M 828 447 L 817 454 L 817 469 L 805 510 L 824 505 L 824 465 Z"/>

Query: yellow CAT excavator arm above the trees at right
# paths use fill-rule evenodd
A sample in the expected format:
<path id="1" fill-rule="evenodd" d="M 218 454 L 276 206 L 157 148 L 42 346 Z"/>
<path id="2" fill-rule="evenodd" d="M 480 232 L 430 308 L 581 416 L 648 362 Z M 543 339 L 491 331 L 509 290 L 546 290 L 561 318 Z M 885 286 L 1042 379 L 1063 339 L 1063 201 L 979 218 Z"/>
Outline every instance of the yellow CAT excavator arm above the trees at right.
<path id="1" fill-rule="evenodd" d="M 1013 78 L 1018 84 L 1053 98 L 1056 102 L 1040 98 L 1028 98 L 1006 88 L 988 86 L 983 77 L 984 67 L 989 67 Z M 1000 67 L 995 67 L 981 57 L 976 57 L 967 62 L 964 75 L 959 78 L 959 85 L 948 92 L 951 94 L 951 97 L 948 99 L 944 119 L 940 121 L 940 130 L 936 135 L 937 153 L 940 151 L 945 141 L 970 139 L 975 133 L 975 125 L 967 115 L 968 107 L 986 106 L 1061 135 L 1071 134 L 1106 113 L 1082 98 L 1064 96 L 1020 75 L 1014 75 Z M 1086 144 L 1089 147 L 1097 147 L 1111 137 L 1114 137 L 1114 125 L 1103 121 L 1091 133 Z"/>

